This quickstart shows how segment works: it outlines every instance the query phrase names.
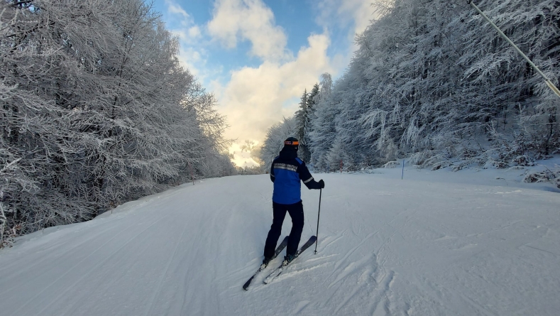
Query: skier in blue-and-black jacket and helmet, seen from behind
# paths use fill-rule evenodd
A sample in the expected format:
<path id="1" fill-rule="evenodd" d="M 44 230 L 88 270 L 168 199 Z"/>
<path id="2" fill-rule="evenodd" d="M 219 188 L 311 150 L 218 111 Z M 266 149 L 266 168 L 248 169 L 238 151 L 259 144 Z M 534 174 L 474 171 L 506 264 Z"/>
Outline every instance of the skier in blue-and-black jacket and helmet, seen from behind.
<path id="1" fill-rule="evenodd" d="M 274 183 L 273 191 L 273 224 L 270 226 L 265 242 L 265 258 L 263 265 L 266 266 L 272 260 L 278 238 L 282 233 L 282 223 L 286 212 L 292 218 L 292 230 L 287 243 L 284 263 L 290 263 L 295 258 L 297 247 L 300 244 L 303 231 L 303 204 L 301 181 L 311 189 L 322 189 L 324 181 L 313 179 L 311 173 L 300 158 L 297 158 L 297 148 L 300 142 L 295 137 L 289 137 L 284 141 L 284 148 L 280 156 L 274 158 L 270 166 L 270 180 Z"/>

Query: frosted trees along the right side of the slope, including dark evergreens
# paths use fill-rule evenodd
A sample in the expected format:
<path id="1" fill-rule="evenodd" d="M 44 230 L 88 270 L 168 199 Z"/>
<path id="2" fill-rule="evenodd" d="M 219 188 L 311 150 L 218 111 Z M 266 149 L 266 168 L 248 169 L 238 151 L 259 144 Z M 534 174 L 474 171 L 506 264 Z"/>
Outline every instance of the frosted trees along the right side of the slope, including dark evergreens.
<path id="1" fill-rule="evenodd" d="M 560 1 L 477 4 L 558 85 Z M 559 153 L 560 98 L 466 1 L 376 6 L 381 17 L 357 36 L 344 75 L 334 84 L 324 75 L 306 106 L 269 130 L 263 160 L 284 136 L 303 140 L 318 171 L 399 158 L 506 168 Z"/>

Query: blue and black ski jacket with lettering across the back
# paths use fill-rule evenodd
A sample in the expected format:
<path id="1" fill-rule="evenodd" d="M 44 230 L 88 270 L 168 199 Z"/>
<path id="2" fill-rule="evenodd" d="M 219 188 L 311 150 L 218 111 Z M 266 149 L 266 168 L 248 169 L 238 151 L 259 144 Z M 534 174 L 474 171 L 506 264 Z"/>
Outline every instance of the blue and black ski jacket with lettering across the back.
<path id="1" fill-rule="evenodd" d="M 280 156 L 274 158 L 270 166 L 270 180 L 274 182 L 273 202 L 279 204 L 295 204 L 302 200 L 302 184 L 309 189 L 320 189 L 305 163 L 297 158 L 297 150 L 285 146 Z"/>

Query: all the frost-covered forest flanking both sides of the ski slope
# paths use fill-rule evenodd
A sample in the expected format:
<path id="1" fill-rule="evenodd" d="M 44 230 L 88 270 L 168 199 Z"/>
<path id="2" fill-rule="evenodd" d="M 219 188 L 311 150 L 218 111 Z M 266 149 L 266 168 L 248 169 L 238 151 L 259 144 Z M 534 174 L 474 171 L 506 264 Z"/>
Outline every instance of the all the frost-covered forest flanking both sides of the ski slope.
<path id="1" fill-rule="evenodd" d="M 345 72 L 302 87 L 268 130 L 263 171 L 288 136 L 314 172 L 515 168 L 560 153 L 560 98 L 467 2 L 375 1 Z M 559 85 L 560 1 L 476 4 Z M 142 0 L 0 1 L 0 246 L 239 172 L 216 97 L 178 51 Z M 560 187 L 560 168 L 536 180 Z"/>

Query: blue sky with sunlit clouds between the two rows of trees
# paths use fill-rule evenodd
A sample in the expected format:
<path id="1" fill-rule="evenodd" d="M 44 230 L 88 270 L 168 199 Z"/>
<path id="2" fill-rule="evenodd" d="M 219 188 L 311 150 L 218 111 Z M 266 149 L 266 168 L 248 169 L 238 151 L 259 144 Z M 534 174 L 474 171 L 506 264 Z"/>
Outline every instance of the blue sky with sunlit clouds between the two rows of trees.
<path id="1" fill-rule="evenodd" d="M 183 65 L 216 95 L 238 151 L 292 116 L 324 72 L 335 80 L 344 72 L 356 34 L 375 17 L 372 1 L 159 0 L 153 8 L 179 38 Z"/>

